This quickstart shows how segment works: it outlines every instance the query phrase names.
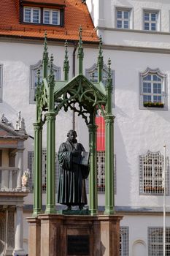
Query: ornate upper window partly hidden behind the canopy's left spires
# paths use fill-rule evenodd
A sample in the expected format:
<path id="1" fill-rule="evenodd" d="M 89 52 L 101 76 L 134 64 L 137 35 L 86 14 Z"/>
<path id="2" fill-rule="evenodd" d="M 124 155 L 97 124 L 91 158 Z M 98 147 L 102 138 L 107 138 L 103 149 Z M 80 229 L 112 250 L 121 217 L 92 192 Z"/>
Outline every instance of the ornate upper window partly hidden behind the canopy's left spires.
<path id="1" fill-rule="evenodd" d="M 35 104 L 35 92 L 37 86 L 37 72 L 40 69 L 40 81 L 42 81 L 42 61 L 39 61 L 37 64 L 32 65 L 30 68 L 31 78 L 30 78 L 30 104 Z M 53 64 L 53 69 L 55 73 L 55 80 L 61 80 L 61 68 Z"/>

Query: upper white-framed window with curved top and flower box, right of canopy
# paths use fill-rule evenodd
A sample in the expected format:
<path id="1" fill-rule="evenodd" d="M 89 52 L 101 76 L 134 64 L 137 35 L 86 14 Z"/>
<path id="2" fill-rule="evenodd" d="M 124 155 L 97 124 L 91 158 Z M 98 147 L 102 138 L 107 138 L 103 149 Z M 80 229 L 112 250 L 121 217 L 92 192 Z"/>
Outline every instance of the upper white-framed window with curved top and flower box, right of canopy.
<path id="1" fill-rule="evenodd" d="M 167 75 L 160 69 L 147 68 L 140 74 L 140 99 L 141 109 L 167 110 Z"/>

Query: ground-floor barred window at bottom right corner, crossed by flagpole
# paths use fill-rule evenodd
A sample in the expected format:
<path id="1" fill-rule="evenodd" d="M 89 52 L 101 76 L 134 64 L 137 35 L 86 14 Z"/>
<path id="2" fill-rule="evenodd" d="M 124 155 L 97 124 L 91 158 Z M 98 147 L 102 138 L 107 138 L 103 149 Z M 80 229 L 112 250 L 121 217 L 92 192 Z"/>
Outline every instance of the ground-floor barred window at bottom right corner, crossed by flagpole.
<path id="1" fill-rule="evenodd" d="M 163 256 L 163 227 L 148 227 L 148 256 Z M 170 255 L 170 227 L 166 227 L 166 256 Z"/>

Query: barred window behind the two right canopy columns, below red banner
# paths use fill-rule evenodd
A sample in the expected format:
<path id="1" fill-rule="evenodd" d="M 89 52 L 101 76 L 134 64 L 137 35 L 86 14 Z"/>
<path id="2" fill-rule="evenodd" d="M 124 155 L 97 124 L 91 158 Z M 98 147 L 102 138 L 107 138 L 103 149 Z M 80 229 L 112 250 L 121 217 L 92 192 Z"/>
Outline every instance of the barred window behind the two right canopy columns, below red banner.
<path id="1" fill-rule="evenodd" d="M 97 188 L 105 192 L 105 151 L 97 151 Z M 114 155 L 114 189 L 116 194 L 116 157 Z"/>

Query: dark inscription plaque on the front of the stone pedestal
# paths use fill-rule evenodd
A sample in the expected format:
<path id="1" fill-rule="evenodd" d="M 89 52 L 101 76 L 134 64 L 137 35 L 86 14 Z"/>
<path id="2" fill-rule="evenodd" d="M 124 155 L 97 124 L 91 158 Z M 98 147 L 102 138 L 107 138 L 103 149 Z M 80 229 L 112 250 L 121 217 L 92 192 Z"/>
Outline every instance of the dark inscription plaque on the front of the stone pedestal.
<path id="1" fill-rule="evenodd" d="M 90 256 L 89 236 L 67 236 L 67 255 Z"/>

